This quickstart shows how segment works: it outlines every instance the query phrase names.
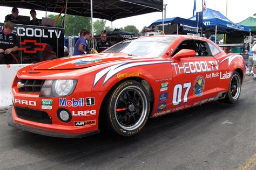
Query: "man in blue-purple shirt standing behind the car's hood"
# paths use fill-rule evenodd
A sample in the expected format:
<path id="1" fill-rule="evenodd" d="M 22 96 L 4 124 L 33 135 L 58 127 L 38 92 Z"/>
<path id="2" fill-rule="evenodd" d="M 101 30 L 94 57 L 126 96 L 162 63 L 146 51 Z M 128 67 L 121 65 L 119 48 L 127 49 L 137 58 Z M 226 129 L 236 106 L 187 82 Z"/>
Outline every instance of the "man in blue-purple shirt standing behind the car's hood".
<path id="1" fill-rule="evenodd" d="M 89 41 L 90 38 L 91 38 L 91 33 L 89 31 L 85 31 L 85 32 L 80 31 L 80 37 L 76 41 L 73 55 L 86 54 L 87 41 Z"/>

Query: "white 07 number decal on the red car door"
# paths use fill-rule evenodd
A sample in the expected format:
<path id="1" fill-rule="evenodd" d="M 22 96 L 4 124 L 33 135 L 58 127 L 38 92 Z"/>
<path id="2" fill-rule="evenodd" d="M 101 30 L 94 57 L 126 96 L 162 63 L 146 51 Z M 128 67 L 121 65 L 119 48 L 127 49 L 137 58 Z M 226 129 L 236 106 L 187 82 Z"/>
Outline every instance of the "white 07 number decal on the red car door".
<path id="1" fill-rule="evenodd" d="M 183 89 L 186 89 L 184 97 L 183 97 L 183 103 L 187 102 L 187 95 L 191 88 L 191 82 L 184 83 L 183 86 L 181 84 L 176 84 L 173 89 L 173 97 L 172 97 L 172 103 L 173 105 L 179 105 L 181 103 L 181 95 L 183 92 Z"/>

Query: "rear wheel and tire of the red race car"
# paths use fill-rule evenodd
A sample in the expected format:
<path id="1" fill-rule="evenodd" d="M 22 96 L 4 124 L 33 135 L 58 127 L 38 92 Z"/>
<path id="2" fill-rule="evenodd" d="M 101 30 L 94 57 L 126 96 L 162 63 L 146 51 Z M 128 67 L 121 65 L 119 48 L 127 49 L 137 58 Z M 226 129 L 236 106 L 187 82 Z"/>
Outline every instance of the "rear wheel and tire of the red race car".
<path id="1" fill-rule="evenodd" d="M 230 79 L 227 95 L 219 100 L 223 103 L 235 103 L 238 101 L 241 93 L 241 77 L 238 72 L 234 72 Z"/>

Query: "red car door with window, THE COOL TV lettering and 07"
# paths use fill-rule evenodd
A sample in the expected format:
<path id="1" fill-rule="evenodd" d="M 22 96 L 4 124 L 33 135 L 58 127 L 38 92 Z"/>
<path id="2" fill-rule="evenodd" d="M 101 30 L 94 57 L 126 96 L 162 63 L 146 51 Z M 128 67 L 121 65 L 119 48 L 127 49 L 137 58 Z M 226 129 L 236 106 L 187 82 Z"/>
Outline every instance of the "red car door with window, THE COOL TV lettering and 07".
<path id="1" fill-rule="evenodd" d="M 184 40 L 173 55 L 181 49 L 193 49 L 196 56 L 181 58 L 171 63 L 173 111 L 203 104 L 209 100 L 214 100 L 217 95 L 215 84 L 219 78 L 219 65 L 212 56 L 207 42 Z"/>

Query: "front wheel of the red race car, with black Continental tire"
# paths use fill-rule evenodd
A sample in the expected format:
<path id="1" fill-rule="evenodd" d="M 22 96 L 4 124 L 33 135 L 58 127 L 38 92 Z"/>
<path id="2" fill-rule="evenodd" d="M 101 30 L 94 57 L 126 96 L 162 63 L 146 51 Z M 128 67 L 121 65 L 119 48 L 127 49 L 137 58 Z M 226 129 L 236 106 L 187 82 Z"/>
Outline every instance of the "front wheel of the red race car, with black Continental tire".
<path id="1" fill-rule="evenodd" d="M 141 83 L 126 80 L 112 89 L 104 110 L 109 128 L 123 136 L 132 136 L 143 129 L 149 118 L 149 95 Z"/>

